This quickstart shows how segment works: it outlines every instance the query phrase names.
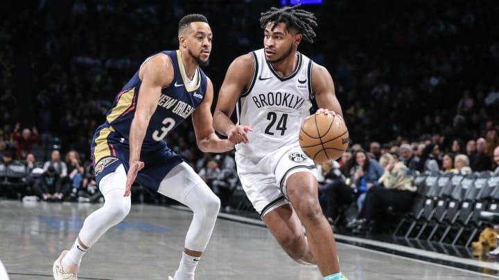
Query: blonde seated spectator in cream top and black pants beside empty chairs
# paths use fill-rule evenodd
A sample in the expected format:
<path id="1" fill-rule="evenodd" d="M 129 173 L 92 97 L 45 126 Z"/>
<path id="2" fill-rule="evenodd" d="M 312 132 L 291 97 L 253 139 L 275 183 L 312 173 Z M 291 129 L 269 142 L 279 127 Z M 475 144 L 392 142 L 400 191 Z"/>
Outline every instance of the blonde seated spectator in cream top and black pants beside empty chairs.
<path id="1" fill-rule="evenodd" d="M 364 207 L 359 214 L 360 224 L 353 233 L 365 234 L 372 229 L 376 218 L 388 208 L 395 212 L 404 212 L 410 209 L 417 187 L 413 185 L 414 178 L 403 162 L 395 162 L 392 156 L 380 158 L 380 165 L 385 169 L 383 176 L 378 179 L 380 185 L 372 186 L 367 192 Z"/>

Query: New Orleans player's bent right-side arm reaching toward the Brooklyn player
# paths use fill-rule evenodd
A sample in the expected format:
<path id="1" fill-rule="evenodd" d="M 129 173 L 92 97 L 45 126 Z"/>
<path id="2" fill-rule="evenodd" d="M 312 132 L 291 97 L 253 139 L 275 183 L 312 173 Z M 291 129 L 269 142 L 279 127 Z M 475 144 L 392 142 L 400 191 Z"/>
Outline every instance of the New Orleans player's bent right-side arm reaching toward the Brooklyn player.
<path id="1" fill-rule="evenodd" d="M 198 147 L 204 152 L 222 153 L 234 149 L 234 144 L 229 140 L 218 138 L 213 129 L 213 117 L 211 116 L 211 103 L 213 102 L 213 84 L 207 78 L 207 92 L 204 100 L 193 112 L 193 126 L 198 142 Z"/>

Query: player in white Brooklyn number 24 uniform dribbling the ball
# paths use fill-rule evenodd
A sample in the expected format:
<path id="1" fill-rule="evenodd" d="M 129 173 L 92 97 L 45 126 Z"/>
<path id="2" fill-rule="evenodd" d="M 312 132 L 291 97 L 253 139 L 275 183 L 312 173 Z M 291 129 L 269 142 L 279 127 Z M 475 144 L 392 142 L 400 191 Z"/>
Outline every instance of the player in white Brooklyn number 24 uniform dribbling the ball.
<path id="1" fill-rule="evenodd" d="M 313 102 L 321 108 L 316 113 L 342 113 L 326 68 L 297 52 L 302 39 L 313 41 L 315 17 L 296 7 L 272 8 L 260 23 L 264 48 L 229 66 L 213 127 L 239 143 L 240 181 L 282 248 L 299 263 L 317 264 L 324 279 L 347 279 L 319 206 L 315 164 L 298 143 Z M 238 124 L 230 119 L 236 105 Z"/>

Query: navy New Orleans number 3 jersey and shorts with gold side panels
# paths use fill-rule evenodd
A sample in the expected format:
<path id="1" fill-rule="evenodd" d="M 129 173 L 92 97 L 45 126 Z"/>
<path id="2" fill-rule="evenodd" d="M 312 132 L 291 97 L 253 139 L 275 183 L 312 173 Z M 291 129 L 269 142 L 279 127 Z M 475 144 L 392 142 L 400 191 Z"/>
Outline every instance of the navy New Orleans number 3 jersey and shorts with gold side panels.
<path id="1" fill-rule="evenodd" d="M 179 50 L 166 50 L 174 69 L 170 86 L 161 89 L 161 97 L 149 122 L 141 149 L 144 168 L 139 171 L 136 182 L 157 189 L 168 171 L 182 162 L 182 158 L 171 151 L 164 138 L 198 107 L 207 90 L 207 77 L 198 67 L 198 82 L 188 84 Z M 137 98 L 142 81 L 139 71 L 116 95 L 106 121 L 98 127 L 91 144 L 92 160 L 97 182 L 114 171 L 120 164 L 128 171 L 130 149 L 130 125 L 137 108 Z"/>

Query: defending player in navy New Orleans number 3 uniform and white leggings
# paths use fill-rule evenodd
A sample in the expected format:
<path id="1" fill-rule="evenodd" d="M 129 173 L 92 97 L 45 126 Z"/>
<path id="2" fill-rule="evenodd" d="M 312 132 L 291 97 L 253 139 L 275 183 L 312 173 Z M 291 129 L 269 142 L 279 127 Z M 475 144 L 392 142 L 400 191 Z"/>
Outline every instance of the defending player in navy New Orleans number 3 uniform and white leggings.
<path id="1" fill-rule="evenodd" d="M 96 180 L 105 197 L 103 207 L 90 214 L 69 251 L 53 265 L 58 279 L 77 279 L 83 254 L 130 211 L 130 187 L 137 182 L 190 207 L 193 221 L 175 280 L 193 279 L 195 267 L 215 225 L 220 200 L 182 158 L 164 142 L 192 113 L 202 151 L 233 149 L 212 127 L 213 85 L 200 65 L 211 51 L 211 28 L 203 15 L 180 20 L 180 50 L 163 51 L 146 59 L 116 96 L 91 145 Z M 143 275 L 142 279 L 148 279 Z M 171 279 L 171 278 L 170 278 Z"/>

